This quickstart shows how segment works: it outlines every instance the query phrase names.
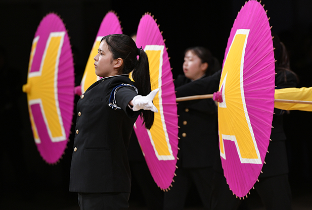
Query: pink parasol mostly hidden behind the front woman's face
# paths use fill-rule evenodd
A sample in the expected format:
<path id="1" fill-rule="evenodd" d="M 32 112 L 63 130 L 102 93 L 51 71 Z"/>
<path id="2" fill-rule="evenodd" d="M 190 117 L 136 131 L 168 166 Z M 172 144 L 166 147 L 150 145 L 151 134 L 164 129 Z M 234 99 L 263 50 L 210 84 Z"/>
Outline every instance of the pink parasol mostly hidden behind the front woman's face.
<path id="1" fill-rule="evenodd" d="M 115 33 L 122 33 L 122 30 L 117 15 L 111 11 L 105 15 L 100 25 L 96 40 L 94 41 L 90 56 L 84 69 L 81 83 L 79 86 L 75 87 L 75 93 L 77 95 L 81 95 L 81 93 L 85 92 L 88 87 L 100 79 L 100 77 L 98 77 L 95 73 L 93 58 L 98 53 L 98 47 L 101 39 L 106 35 Z"/>

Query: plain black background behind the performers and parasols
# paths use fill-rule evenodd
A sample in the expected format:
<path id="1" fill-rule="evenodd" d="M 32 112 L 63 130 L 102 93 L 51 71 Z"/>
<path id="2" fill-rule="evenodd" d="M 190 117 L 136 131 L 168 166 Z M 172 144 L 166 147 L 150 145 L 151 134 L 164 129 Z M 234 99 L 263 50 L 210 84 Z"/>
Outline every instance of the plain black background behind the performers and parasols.
<path id="1" fill-rule="evenodd" d="M 75 209 L 77 206 L 76 194 L 68 192 L 73 138 L 70 136 L 68 148 L 58 164 L 46 164 L 34 143 L 26 94 L 21 91 L 27 81 L 32 39 L 46 14 L 56 12 L 66 24 L 78 85 L 99 26 L 110 10 L 118 14 L 123 33 L 127 35 L 136 32 L 140 18 L 146 12 L 154 15 L 166 39 L 175 78 L 183 73 L 184 50 L 189 46 L 209 48 L 222 63 L 234 19 L 244 4 L 245 1 L 240 0 L 1 0 L 0 47 L 5 55 L 0 60 L 1 104 L 10 100 L 14 109 L 4 112 L 5 108 L 1 108 L 0 209 L 69 209 L 67 206 Z M 262 4 L 271 17 L 272 31 L 288 48 L 291 68 L 300 79 L 298 87 L 312 86 L 312 1 L 263 0 Z M 311 116 L 309 112 L 291 111 L 284 120 L 289 179 L 295 200 L 305 200 L 306 195 L 311 194 Z M 139 200 L 139 190 L 132 192 L 130 201 Z M 198 205 L 194 193 L 188 198 L 188 206 Z M 40 203 L 45 207 L 36 207 Z"/>

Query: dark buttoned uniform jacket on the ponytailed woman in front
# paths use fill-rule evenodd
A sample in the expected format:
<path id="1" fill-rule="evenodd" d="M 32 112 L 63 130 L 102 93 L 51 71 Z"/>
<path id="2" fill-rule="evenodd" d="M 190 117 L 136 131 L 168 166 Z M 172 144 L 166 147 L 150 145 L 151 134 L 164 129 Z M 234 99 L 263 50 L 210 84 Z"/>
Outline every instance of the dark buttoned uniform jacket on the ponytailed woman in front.
<path id="1" fill-rule="evenodd" d="M 129 86 L 121 87 L 115 95 L 121 109 L 109 106 L 112 90 L 120 84 L 134 85 L 128 75 L 102 78 L 77 102 L 69 191 L 130 192 L 126 150 L 133 124 L 141 112 L 133 112 L 127 106 L 137 95 Z"/>

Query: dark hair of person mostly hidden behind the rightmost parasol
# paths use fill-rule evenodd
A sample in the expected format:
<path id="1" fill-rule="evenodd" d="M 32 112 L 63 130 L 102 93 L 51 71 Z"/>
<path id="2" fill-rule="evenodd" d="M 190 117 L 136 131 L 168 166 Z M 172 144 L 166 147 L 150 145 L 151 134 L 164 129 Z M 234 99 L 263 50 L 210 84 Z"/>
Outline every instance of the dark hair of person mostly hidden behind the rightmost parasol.
<path id="1" fill-rule="evenodd" d="M 289 56 L 286 49 L 286 46 L 283 42 L 280 41 L 278 35 L 273 34 L 273 46 L 274 46 L 274 58 L 275 62 L 275 72 L 283 72 L 284 80 L 287 81 L 286 72 L 290 72 L 296 76 L 297 82 L 299 81 L 298 76 L 295 72 L 290 69 Z"/>

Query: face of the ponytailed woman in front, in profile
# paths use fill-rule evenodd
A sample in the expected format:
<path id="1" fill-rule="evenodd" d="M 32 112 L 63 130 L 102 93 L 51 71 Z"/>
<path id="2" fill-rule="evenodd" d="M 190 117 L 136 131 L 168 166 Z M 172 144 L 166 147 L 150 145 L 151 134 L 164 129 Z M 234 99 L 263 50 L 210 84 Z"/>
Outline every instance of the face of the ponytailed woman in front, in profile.
<path id="1" fill-rule="evenodd" d="M 115 60 L 113 60 L 112 53 L 109 51 L 105 40 L 100 43 L 98 54 L 94 57 L 94 60 L 96 75 L 99 77 L 116 75 L 116 71 L 114 71 Z"/>

